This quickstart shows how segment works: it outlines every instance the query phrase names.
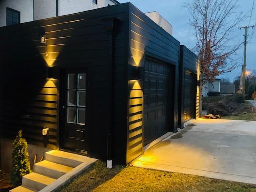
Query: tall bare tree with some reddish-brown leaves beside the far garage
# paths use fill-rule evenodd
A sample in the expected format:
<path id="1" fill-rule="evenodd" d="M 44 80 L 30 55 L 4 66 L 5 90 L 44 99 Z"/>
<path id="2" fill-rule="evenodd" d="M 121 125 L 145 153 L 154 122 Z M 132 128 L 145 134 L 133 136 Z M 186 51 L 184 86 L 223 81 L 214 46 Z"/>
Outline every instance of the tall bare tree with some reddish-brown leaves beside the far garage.
<path id="1" fill-rule="evenodd" d="M 190 25 L 196 37 L 195 51 L 200 62 L 200 92 L 204 82 L 231 72 L 237 67 L 232 55 L 242 43 L 235 41 L 233 30 L 244 16 L 237 15 L 237 0 L 193 0 L 185 5 L 192 18 Z M 200 116 L 202 94 L 200 94 Z"/>

